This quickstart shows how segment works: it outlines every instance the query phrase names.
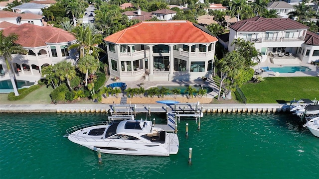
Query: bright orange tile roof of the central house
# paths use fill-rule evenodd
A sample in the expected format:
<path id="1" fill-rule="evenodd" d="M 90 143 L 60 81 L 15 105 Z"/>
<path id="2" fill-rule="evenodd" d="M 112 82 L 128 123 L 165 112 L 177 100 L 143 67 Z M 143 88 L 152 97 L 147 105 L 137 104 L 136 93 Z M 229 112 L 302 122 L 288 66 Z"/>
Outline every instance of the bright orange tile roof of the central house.
<path id="1" fill-rule="evenodd" d="M 119 44 L 209 43 L 217 41 L 186 20 L 146 21 L 135 24 L 104 39 Z"/>

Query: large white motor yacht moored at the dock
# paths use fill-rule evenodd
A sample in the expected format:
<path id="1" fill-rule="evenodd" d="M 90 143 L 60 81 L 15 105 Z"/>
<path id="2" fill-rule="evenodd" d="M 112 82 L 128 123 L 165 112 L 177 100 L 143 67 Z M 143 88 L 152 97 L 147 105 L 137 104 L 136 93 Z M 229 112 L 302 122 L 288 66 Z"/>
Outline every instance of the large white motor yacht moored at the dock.
<path id="1" fill-rule="evenodd" d="M 93 122 L 66 130 L 71 142 L 108 154 L 169 156 L 177 154 L 174 133 L 154 127 L 152 121 Z"/>

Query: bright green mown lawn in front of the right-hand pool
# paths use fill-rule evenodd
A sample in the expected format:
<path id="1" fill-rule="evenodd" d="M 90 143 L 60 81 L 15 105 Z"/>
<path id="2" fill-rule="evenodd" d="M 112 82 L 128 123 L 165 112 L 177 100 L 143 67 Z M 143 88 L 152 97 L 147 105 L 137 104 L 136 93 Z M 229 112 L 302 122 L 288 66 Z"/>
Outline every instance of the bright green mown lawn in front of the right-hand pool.
<path id="1" fill-rule="evenodd" d="M 319 99 L 318 77 L 272 77 L 241 87 L 247 103 L 282 103 L 300 98 Z"/>

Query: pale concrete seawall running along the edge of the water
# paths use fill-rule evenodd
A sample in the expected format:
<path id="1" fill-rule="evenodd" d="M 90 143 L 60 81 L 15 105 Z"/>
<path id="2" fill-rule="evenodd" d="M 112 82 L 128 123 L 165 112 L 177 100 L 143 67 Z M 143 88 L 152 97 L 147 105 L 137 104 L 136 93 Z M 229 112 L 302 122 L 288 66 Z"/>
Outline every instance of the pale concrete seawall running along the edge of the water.
<path id="1" fill-rule="evenodd" d="M 0 112 L 101 112 L 107 113 L 112 104 L 1 104 Z M 116 105 L 115 105 L 116 106 Z M 134 106 L 134 104 L 132 104 Z M 136 112 L 166 112 L 165 104 L 136 104 Z M 287 104 L 200 104 L 203 113 L 274 113 L 289 110 Z M 121 111 L 119 111 L 121 112 Z"/>

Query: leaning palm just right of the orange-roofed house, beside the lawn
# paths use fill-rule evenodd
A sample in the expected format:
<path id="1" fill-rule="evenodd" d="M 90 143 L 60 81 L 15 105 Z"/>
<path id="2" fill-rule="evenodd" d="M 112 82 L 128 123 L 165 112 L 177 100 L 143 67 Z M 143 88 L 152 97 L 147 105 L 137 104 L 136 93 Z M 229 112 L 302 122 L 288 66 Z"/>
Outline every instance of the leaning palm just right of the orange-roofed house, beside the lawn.
<path id="1" fill-rule="evenodd" d="M 220 97 L 223 81 L 228 77 L 233 79 L 244 66 L 244 57 L 237 51 L 227 53 L 224 58 L 219 61 L 219 71 L 221 73 L 218 98 Z"/>

